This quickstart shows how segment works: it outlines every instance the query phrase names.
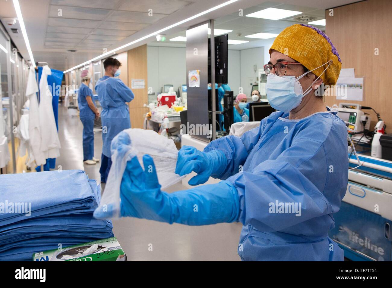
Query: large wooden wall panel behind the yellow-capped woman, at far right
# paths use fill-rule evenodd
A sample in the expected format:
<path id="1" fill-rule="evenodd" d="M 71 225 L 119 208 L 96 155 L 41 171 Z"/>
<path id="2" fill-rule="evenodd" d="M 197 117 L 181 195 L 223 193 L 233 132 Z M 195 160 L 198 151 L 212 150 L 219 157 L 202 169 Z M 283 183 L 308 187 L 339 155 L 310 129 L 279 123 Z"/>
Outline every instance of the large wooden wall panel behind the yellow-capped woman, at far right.
<path id="1" fill-rule="evenodd" d="M 381 114 L 392 132 L 391 70 L 392 26 L 391 0 L 367 0 L 325 11 L 326 34 L 338 50 L 342 68 L 355 68 L 355 76 L 364 76 L 363 101 L 338 101 L 325 97 L 328 106 L 340 102 L 370 106 Z M 379 55 L 375 55 L 378 48 Z M 372 110 L 364 110 L 372 117 L 374 128 L 377 117 Z"/>

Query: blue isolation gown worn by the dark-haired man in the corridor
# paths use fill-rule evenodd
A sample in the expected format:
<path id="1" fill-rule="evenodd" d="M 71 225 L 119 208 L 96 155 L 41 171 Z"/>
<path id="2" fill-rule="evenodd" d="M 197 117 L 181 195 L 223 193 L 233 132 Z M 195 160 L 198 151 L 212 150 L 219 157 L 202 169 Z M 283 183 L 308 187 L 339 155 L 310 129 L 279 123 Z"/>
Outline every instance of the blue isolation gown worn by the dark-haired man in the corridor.
<path id="1" fill-rule="evenodd" d="M 125 102 L 131 102 L 134 95 L 123 81 L 109 76 L 103 76 L 97 81 L 95 91 L 102 106 L 102 153 L 110 158 L 110 144 L 114 136 L 131 128 L 129 108 Z"/>

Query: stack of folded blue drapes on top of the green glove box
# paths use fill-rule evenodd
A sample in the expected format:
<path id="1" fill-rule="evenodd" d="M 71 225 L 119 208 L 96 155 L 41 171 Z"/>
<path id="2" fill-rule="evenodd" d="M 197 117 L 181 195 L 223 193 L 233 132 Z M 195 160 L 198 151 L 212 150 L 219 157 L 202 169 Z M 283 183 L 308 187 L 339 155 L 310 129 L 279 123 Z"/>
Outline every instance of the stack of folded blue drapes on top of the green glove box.
<path id="1" fill-rule="evenodd" d="M 93 218 L 100 199 L 82 170 L 0 175 L 0 260 L 112 237 L 112 222 Z"/>

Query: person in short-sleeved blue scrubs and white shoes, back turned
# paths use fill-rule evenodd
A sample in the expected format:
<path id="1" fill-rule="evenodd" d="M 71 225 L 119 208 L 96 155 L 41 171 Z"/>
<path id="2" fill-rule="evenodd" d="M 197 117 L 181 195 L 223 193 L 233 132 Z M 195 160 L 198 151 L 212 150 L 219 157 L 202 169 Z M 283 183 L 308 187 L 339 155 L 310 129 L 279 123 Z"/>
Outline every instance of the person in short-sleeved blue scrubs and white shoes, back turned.
<path id="1" fill-rule="evenodd" d="M 100 113 L 93 101 L 93 91 L 89 88 L 91 74 L 85 69 L 80 74 L 82 84 L 78 92 L 79 117 L 83 123 L 83 163 L 96 164 L 99 159 L 94 158 L 94 119 L 98 119 Z"/>

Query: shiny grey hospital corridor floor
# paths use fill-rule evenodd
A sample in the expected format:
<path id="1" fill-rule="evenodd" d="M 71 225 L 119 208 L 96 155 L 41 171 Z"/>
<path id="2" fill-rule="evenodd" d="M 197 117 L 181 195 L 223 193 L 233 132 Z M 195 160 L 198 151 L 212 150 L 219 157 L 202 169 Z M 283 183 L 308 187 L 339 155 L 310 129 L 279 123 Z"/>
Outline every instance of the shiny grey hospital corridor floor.
<path id="1" fill-rule="evenodd" d="M 100 182 L 100 162 L 83 165 L 82 131 L 79 117 L 69 115 L 67 108 L 60 104 L 58 133 L 61 149 L 56 167 L 85 170 L 89 178 Z M 94 131 L 94 157 L 101 158 L 101 152 L 101 131 Z M 104 184 L 101 188 L 104 189 Z M 187 189 L 181 183 L 170 188 L 167 192 Z M 240 261 L 237 249 L 241 227 L 240 223 L 170 225 L 137 218 L 113 221 L 114 236 L 128 261 Z"/>

